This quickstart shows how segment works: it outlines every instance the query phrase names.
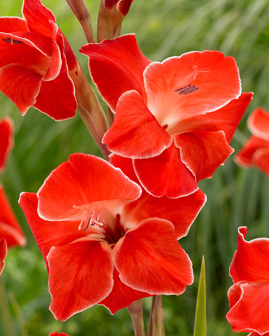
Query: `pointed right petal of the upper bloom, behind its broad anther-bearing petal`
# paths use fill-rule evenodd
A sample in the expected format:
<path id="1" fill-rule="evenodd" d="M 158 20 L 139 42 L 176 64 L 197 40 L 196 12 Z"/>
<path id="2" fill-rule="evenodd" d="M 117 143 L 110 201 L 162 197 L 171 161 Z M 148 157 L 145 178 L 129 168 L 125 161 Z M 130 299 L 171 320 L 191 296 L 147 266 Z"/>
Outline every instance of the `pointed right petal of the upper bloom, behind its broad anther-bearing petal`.
<path id="1" fill-rule="evenodd" d="M 217 111 L 182 120 L 169 132 L 170 134 L 180 134 L 188 131 L 224 131 L 225 138 L 230 143 L 252 96 L 252 92 L 242 93 L 238 99 L 231 100 Z"/>

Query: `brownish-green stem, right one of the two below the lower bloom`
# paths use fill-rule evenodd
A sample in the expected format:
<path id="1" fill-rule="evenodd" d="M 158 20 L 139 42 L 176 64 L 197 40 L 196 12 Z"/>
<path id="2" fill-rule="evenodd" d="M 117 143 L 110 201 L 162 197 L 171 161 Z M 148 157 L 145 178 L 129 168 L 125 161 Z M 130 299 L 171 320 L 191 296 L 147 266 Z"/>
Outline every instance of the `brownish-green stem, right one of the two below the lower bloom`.
<path id="1" fill-rule="evenodd" d="M 165 336 L 163 315 L 162 296 L 153 296 L 147 336 Z"/>

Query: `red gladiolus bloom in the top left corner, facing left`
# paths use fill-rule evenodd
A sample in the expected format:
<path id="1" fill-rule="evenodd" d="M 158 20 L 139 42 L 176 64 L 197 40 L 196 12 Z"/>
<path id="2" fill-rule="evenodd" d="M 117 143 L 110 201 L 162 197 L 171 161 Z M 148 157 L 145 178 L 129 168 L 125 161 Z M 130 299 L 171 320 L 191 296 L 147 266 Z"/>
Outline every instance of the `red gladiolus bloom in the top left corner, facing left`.
<path id="1" fill-rule="evenodd" d="M 76 114 L 72 77 L 78 64 L 55 17 L 40 0 L 24 0 L 20 17 L 0 17 L 0 90 L 22 115 L 31 106 L 55 120 Z"/>

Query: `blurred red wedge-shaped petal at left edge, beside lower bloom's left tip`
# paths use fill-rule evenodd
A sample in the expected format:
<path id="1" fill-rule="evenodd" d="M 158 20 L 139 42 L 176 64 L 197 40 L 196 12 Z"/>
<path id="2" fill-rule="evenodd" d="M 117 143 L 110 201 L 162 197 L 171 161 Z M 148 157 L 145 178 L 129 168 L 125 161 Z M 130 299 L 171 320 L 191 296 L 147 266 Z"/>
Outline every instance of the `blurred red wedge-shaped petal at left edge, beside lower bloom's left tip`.
<path id="1" fill-rule="evenodd" d="M 8 247 L 26 245 L 26 237 L 7 200 L 2 185 L 0 185 L 0 237 L 6 239 Z"/>

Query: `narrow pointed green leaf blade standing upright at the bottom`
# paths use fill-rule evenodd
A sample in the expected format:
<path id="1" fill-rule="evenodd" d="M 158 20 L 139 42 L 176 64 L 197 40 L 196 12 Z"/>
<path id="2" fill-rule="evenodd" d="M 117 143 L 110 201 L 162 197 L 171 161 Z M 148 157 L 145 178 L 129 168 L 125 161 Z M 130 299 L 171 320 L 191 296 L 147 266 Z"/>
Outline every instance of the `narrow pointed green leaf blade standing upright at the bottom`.
<path id="1" fill-rule="evenodd" d="M 199 287 L 198 287 L 198 293 L 197 293 L 193 336 L 206 336 L 204 256 L 202 258 L 202 266 L 201 266 Z"/>

